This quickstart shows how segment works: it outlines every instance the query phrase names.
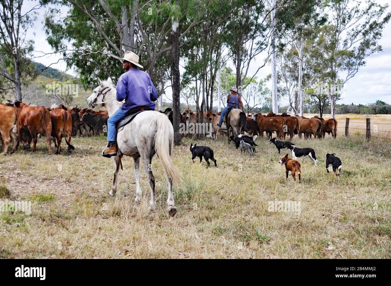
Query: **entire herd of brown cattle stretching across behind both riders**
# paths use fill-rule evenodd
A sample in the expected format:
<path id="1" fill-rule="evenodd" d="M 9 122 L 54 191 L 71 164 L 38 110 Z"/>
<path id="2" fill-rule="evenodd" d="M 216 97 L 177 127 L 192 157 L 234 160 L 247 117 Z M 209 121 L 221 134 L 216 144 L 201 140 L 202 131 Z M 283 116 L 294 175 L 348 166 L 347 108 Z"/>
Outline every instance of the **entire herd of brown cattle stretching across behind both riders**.
<path id="1" fill-rule="evenodd" d="M 164 112 L 172 123 L 172 109 L 166 108 Z M 210 137 L 217 139 L 218 135 L 229 137 L 228 131 L 217 126 L 221 112 L 203 112 L 203 123 L 211 125 Z M 191 126 L 197 123 L 197 114 L 191 110 L 185 110 L 181 115 L 182 123 Z M 109 118 L 106 110 L 95 111 L 87 108 L 67 108 L 59 105 L 57 108 L 45 108 L 43 106 L 30 106 L 25 103 L 15 101 L 13 103 L 0 103 L 0 137 L 3 149 L 1 155 L 7 153 L 9 144 L 12 141 L 11 154 L 22 142 L 25 150 L 36 151 L 36 144 L 39 135 L 46 135 L 48 143 L 48 154 L 52 154 L 51 141 L 57 147 L 56 154 L 61 151 L 61 141 L 65 138 L 68 145 L 68 152 L 74 149 L 71 144 L 72 136 L 95 135 L 97 133 L 107 133 L 107 120 Z M 266 132 L 269 138 L 272 133 L 276 133 L 277 138 L 290 136 L 290 140 L 296 134 L 301 138 L 314 135 L 315 138 L 324 138 L 325 133 L 336 137 L 337 121 L 335 119 L 324 120 L 317 116 L 313 118 L 290 116 L 286 113 L 281 115 L 270 112 L 267 115 L 249 114 L 247 117 L 247 131 L 249 135 L 260 135 L 263 137 Z M 193 137 L 194 133 L 183 133 L 183 136 Z M 32 148 L 30 147 L 33 143 Z"/>

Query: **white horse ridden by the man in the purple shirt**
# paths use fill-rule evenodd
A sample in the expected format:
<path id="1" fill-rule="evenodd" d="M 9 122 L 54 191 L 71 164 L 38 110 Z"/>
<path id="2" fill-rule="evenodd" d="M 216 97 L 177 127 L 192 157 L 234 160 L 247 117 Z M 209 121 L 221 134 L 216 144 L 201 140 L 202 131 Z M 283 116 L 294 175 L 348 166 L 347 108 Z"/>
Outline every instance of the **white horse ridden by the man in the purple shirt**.
<path id="1" fill-rule="evenodd" d="M 96 87 L 93 93 L 88 97 L 87 104 L 91 108 L 97 106 L 105 106 L 109 112 L 109 116 L 122 105 L 118 102 L 115 86 L 111 82 L 111 78 L 106 81 L 101 81 L 98 78 L 99 86 Z M 172 147 L 174 142 L 174 128 L 168 117 L 160 112 L 148 110 L 143 111 L 117 134 L 117 156 L 114 159 L 114 179 L 113 186 L 109 194 L 114 196 L 117 192 L 117 182 L 119 176 L 120 160 L 123 155 L 133 157 L 135 161 L 135 179 L 136 179 L 136 202 L 141 201 L 142 191 L 140 188 L 140 157 L 147 177 L 149 186 L 151 187 L 150 210 L 155 210 L 155 178 L 152 174 L 152 158 L 155 153 L 163 165 L 163 169 L 167 174 L 168 181 L 168 211 L 170 216 L 176 214 L 174 206 L 174 196 L 172 194 L 172 185 L 181 185 L 181 175 L 178 169 L 172 163 Z M 122 167 L 122 165 L 121 165 Z"/>

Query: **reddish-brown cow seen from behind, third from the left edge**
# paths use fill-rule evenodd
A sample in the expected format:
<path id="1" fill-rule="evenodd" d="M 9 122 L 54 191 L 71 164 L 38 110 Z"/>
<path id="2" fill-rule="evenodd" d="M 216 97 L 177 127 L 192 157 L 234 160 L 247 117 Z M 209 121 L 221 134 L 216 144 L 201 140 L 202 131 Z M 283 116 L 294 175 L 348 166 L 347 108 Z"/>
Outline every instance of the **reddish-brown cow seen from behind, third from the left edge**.
<path id="1" fill-rule="evenodd" d="M 68 145 L 68 153 L 70 153 L 71 149 L 75 149 L 75 147 L 70 144 L 72 136 L 72 116 L 67 110 L 61 108 L 60 106 L 50 111 L 50 115 L 52 116 L 52 136 L 54 139 L 56 139 L 53 140 L 55 146 L 57 147 L 56 154 L 60 154 L 61 139 L 63 137 L 65 138 L 65 142 Z"/>

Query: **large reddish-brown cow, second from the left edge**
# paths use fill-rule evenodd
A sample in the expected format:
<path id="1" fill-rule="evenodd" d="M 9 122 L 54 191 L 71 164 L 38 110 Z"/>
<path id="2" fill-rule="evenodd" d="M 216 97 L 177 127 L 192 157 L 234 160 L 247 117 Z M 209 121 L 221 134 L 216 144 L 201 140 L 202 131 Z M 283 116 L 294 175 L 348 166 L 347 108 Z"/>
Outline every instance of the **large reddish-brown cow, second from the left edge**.
<path id="1" fill-rule="evenodd" d="M 30 149 L 33 141 L 32 151 L 37 149 L 38 134 L 46 134 L 49 147 L 49 155 L 52 154 L 52 117 L 49 111 L 43 106 L 29 106 L 20 101 L 15 101 L 18 112 L 18 132 L 20 141 L 25 149 Z"/>

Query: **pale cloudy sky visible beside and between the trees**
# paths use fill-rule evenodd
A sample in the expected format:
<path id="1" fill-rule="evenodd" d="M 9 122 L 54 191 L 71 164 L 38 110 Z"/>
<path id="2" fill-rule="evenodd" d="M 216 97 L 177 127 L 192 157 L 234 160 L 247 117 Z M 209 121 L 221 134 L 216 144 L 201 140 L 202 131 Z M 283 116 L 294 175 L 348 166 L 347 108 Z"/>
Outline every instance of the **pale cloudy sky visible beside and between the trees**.
<path id="1" fill-rule="evenodd" d="M 377 3 L 386 4 L 387 1 L 378 0 Z M 23 10 L 31 9 L 36 4 L 36 1 L 25 2 Z M 43 31 L 42 20 L 45 11 L 47 11 L 47 8 L 39 10 L 38 20 L 36 21 L 35 27 L 28 31 L 27 38 L 34 39 L 36 51 L 52 52 L 50 45 L 46 41 L 45 32 Z M 62 11 L 63 14 L 66 14 L 67 9 L 63 8 Z M 390 8 L 388 11 L 390 11 Z M 33 32 L 35 32 L 35 35 Z M 355 104 L 367 104 L 372 103 L 377 99 L 391 103 L 391 22 L 384 28 L 383 36 L 379 41 L 379 44 L 382 45 L 383 51 L 368 57 L 366 66 L 362 67 L 359 72 L 345 84 L 343 99 L 338 101 L 339 104 L 350 104 L 352 102 Z M 38 52 L 35 53 L 35 56 L 39 55 L 41 54 Z M 262 55 L 259 58 L 261 60 Z M 48 66 L 49 64 L 57 62 L 58 59 L 61 59 L 61 55 L 48 55 L 34 60 Z M 232 63 L 229 63 L 229 65 L 233 68 Z M 61 71 L 66 70 L 66 64 L 63 61 L 53 64 L 51 67 L 60 69 Z M 118 68 L 122 67 L 118 65 Z M 250 71 L 252 70 L 254 72 L 257 68 L 258 65 L 253 63 Z M 75 75 L 75 72 L 72 70 L 68 70 L 67 73 Z M 271 67 L 267 65 L 258 72 L 257 76 L 264 78 L 270 73 Z M 268 86 L 271 87 L 271 83 L 268 83 Z M 167 89 L 166 91 L 167 96 L 170 98 L 172 92 Z M 285 103 L 286 101 L 282 101 L 282 104 Z M 215 105 L 217 105 L 217 102 L 215 102 Z"/>

